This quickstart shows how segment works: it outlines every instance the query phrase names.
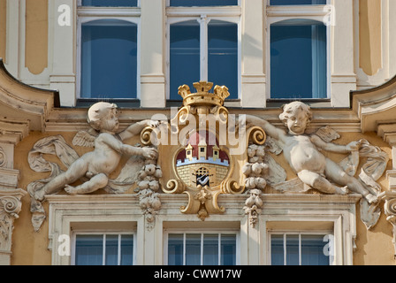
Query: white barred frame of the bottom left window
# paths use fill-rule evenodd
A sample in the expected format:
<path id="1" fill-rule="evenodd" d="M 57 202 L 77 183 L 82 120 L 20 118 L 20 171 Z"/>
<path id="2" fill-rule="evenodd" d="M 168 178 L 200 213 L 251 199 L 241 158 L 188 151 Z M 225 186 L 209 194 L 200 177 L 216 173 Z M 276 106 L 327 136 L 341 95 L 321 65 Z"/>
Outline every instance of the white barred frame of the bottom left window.
<path id="1" fill-rule="evenodd" d="M 102 235 L 103 236 L 103 262 L 102 265 L 106 265 L 106 235 L 118 235 L 118 265 L 121 264 L 121 235 L 133 235 L 133 265 L 136 264 L 136 233 L 134 231 L 84 231 L 78 230 L 72 232 L 72 258 L 71 264 L 75 265 L 76 259 L 76 241 L 78 235 Z"/>

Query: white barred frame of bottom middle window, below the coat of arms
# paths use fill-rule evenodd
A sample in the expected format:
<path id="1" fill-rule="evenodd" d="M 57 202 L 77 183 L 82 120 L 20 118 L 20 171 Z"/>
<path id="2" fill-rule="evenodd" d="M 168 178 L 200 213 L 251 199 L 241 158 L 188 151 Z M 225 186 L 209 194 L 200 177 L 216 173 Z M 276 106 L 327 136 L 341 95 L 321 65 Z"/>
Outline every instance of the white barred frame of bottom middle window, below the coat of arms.
<path id="1" fill-rule="evenodd" d="M 210 233 L 210 234 L 217 234 L 217 235 L 221 235 L 221 234 L 232 234 L 232 235 L 236 235 L 236 265 L 240 265 L 240 230 L 234 230 L 234 229 L 217 229 L 217 230 L 202 230 L 202 229 L 185 229 L 185 230 L 179 230 L 179 229 L 169 229 L 169 230 L 164 230 L 164 265 L 168 265 L 168 238 L 169 238 L 169 234 L 170 233 L 182 233 L 183 234 L 183 265 L 186 265 L 186 234 L 187 233 L 194 233 L 194 234 L 201 234 L 201 265 L 203 265 L 203 253 L 202 253 L 202 249 L 203 249 L 203 234 L 206 233 Z M 220 249 L 221 249 L 221 245 L 220 245 L 220 241 L 221 241 L 221 237 L 218 237 L 218 241 L 219 241 L 219 246 L 218 246 L 218 257 L 219 257 L 219 261 L 218 263 L 220 264 Z"/>

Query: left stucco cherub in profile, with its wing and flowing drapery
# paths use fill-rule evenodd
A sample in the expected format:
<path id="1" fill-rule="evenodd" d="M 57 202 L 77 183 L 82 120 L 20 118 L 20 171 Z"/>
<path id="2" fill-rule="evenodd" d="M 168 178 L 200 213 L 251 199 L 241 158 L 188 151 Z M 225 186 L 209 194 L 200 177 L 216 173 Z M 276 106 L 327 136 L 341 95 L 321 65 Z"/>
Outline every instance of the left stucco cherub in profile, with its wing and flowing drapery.
<path id="1" fill-rule="evenodd" d="M 56 194 L 65 189 L 70 195 L 89 194 L 104 189 L 111 194 L 122 194 L 137 180 L 137 174 L 144 166 L 145 159 L 156 159 L 156 149 L 131 146 L 123 141 L 141 134 L 145 127 L 158 126 L 157 121 L 143 120 L 118 133 L 118 108 L 113 103 L 95 103 L 88 110 L 88 124 L 91 129 L 80 131 L 73 139 L 74 145 L 93 147 L 92 151 L 79 157 L 62 136 L 44 138 L 30 150 L 28 162 L 35 172 L 51 172 L 50 177 L 37 180 L 27 186 L 31 195 L 32 223 L 38 230 L 45 218 L 42 201 L 45 195 Z M 42 154 L 56 155 L 67 167 L 63 172 L 59 164 L 49 162 Z M 122 155 L 132 156 L 119 173 L 117 179 L 109 175 L 118 167 Z M 71 184 L 81 180 L 81 184 Z"/>

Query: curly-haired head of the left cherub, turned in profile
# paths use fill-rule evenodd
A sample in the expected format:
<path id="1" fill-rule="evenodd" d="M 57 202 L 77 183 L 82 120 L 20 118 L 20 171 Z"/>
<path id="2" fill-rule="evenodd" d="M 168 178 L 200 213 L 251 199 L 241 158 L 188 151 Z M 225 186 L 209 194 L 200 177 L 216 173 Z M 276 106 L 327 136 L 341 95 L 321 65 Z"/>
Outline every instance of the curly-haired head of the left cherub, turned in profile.
<path id="1" fill-rule="evenodd" d="M 95 103 L 88 110 L 88 123 L 97 131 L 118 130 L 118 108 L 114 103 Z"/>

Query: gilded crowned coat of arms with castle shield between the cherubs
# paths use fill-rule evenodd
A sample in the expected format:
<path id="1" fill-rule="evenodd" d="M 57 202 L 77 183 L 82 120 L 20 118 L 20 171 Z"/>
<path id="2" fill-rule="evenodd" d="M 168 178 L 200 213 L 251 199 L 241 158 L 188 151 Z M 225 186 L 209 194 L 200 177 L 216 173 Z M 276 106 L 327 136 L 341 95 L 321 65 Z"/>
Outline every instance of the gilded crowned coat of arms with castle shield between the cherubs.
<path id="1" fill-rule="evenodd" d="M 162 188 L 165 194 L 186 194 L 188 203 L 180 211 L 203 221 L 225 213 L 220 195 L 245 191 L 239 158 L 246 156 L 249 141 L 262 145 L 266 135 L 258 126 L 246 129 L 244 119 L 235 123 L 224 106 L 230 96 L 225 86 L 213 88 L 212 82 L 199 81 L 194 88 L 192 93 L 187 85 L 179 87 L 183 107 L 171 118 L 171 133 L 164 139 L 179 142 L 166 149 L 171 152 L 171 172 Z"/>

